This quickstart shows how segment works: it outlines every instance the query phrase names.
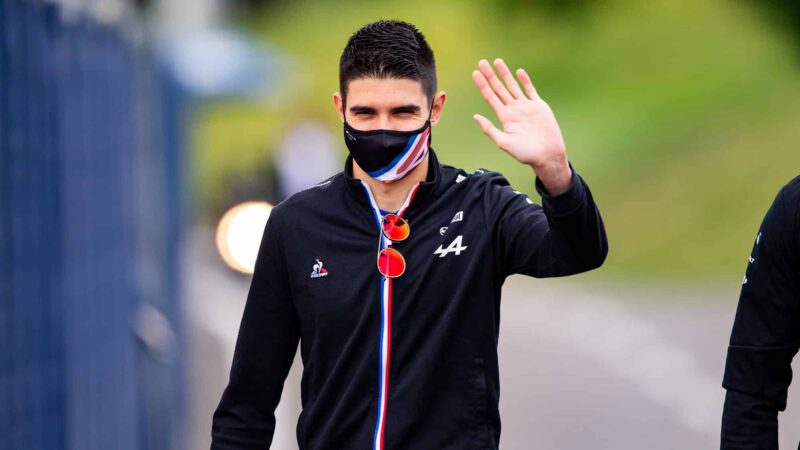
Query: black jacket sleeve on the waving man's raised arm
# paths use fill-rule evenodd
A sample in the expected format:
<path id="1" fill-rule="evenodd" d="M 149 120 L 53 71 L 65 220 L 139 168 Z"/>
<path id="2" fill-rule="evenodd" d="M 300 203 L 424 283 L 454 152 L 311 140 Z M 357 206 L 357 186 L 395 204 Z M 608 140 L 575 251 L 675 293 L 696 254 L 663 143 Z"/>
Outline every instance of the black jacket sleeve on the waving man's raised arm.
<path id="1" fill-rule="evenodd" d="M 570 167 L 572 167 L 570 165 Z M 486 188 L 486 220 L 504 275 L 558 277 L 600 267 L 608 254 L 603 220 L 592 194 L 573 169 L 567 191 L 549 195 L 536 178 L 542 205 L 492 172 Z"/>

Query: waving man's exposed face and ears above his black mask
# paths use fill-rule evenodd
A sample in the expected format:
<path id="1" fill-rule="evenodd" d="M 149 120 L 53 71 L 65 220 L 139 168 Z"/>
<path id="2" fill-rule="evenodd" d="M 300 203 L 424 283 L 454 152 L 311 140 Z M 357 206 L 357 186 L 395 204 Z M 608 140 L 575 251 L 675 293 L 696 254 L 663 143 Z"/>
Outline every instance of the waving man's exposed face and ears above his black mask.
<path id="1" fill-rule="evenodd" d="M 438 122 L 444 98 L 444 92 L 436 95 L 431 124 Z M 428 120 L 430 108 L 422 83 L 408 78 L 358 78 L 348 86 L 346 111 L 339 92 L 333 102 L 342 120 L 363 131 L 419 129 Z"/>

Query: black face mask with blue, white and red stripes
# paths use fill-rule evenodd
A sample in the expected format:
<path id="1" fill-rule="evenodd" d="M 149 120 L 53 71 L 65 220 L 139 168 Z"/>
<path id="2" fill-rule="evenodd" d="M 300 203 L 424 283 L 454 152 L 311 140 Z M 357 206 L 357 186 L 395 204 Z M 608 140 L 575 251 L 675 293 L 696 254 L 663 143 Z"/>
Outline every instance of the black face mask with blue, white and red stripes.
<path id="1" fill-rule="evenodd" d="M 433 105 L 431 105 L 431 112 Z M 344 121 L 344 142 L 367 174 L 390 183 L 411 172 L 425 159 L 431 145 L 431 120 L 413 131 L 356 130 Z"/>

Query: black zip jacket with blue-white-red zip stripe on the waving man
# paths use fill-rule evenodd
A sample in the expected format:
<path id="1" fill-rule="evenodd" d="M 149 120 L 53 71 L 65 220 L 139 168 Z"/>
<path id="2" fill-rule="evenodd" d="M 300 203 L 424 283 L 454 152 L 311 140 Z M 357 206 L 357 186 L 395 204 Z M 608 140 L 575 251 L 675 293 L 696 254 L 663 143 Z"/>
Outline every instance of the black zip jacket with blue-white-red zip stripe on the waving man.
<path id="1" fill-rule="evenodd" d="M 574 173 L 574 171 L 573 171 Z M 379 212 L 345 170 L 278 204 L 264 229 L 212 449 L 266 449 L 301 343 L 300 449 L 494 449 L 507 276 L 599 267 L 606 234 L 575 173 L 543 205 L 499 173 L 440 165 L 399 211 L 407 270 L 378 272 Z"/>

